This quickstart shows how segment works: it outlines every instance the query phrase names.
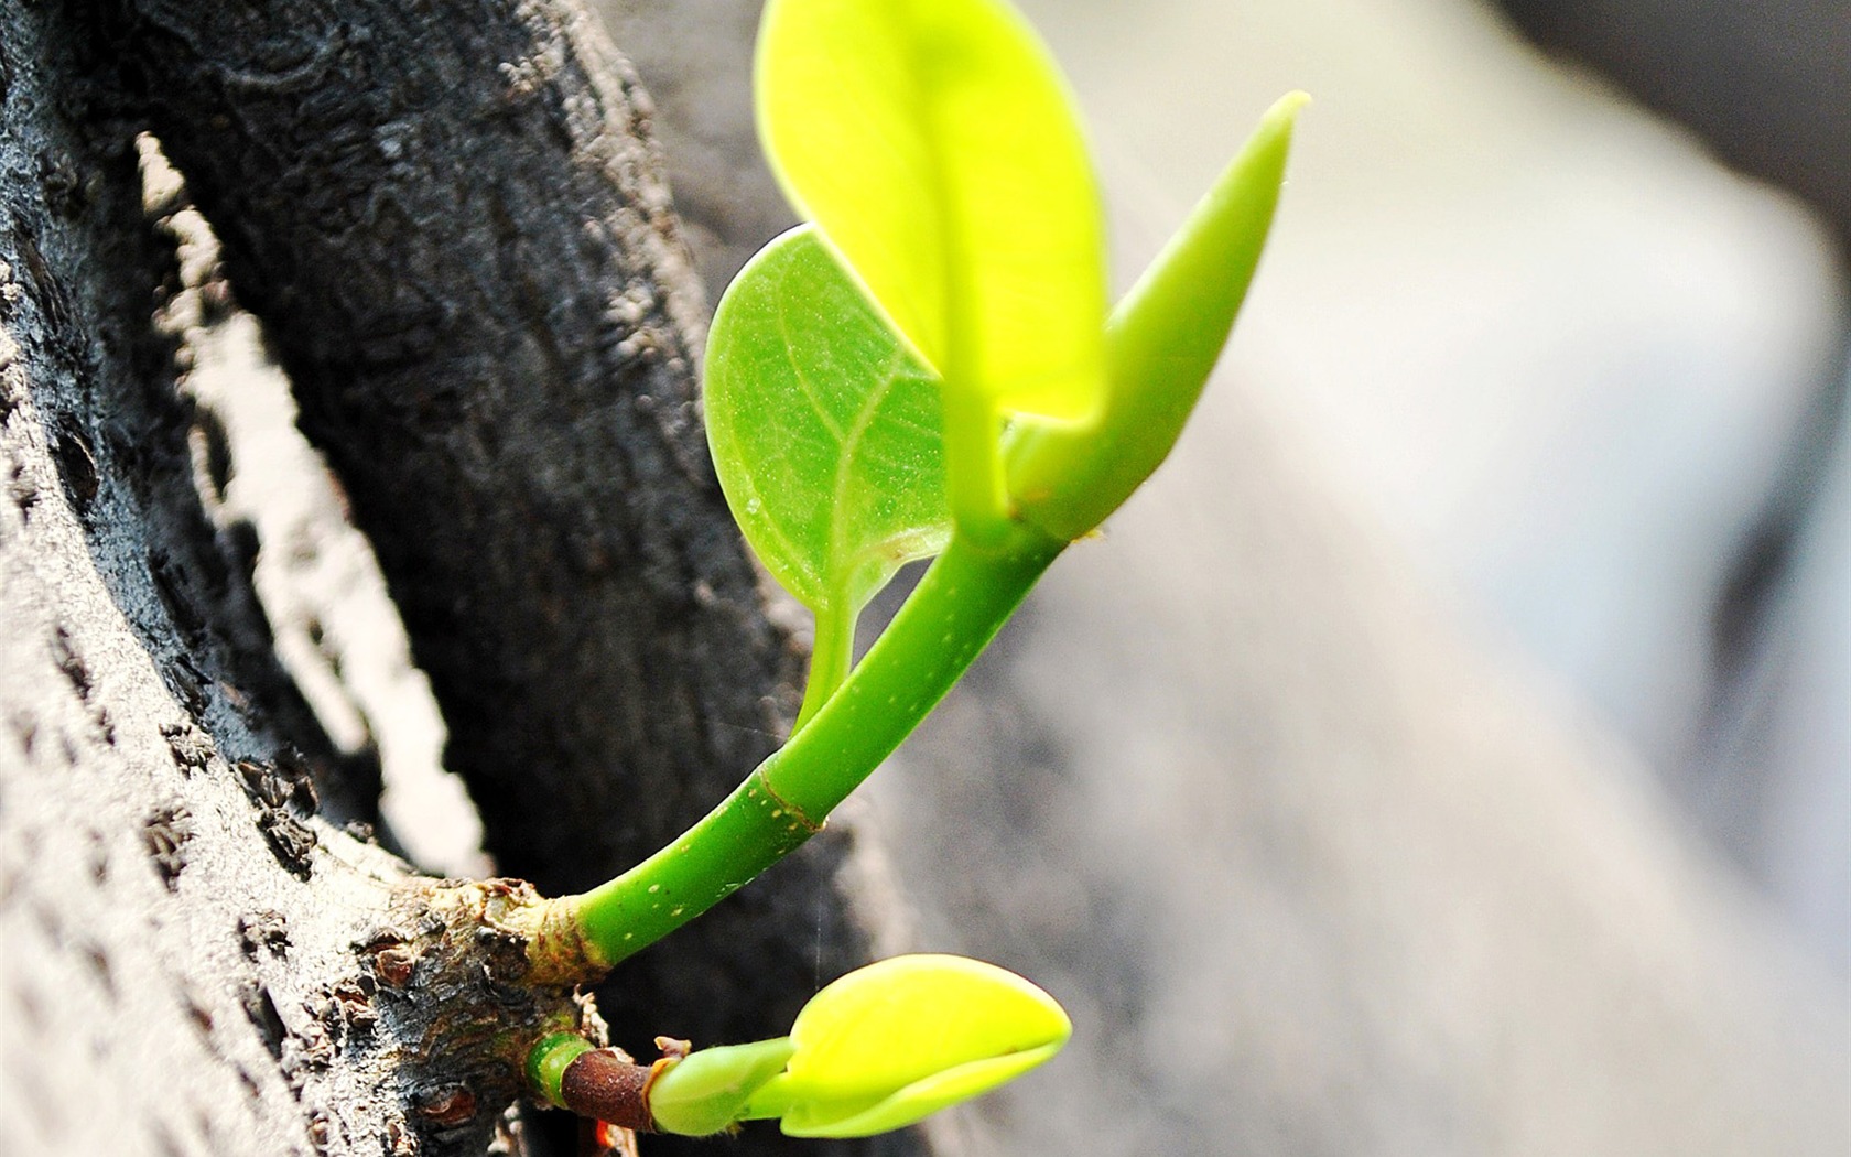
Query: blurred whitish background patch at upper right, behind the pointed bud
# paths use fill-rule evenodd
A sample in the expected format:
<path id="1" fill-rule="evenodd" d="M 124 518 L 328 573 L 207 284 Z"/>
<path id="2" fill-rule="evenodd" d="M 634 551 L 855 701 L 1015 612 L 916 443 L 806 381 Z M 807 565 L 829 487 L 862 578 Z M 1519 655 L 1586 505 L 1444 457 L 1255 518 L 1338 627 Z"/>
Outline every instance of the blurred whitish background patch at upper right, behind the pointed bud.
<path id="1" fill-rule="evenodd" d="M 1224 389 L 1292 426 L 1462 629 L 1614 728 L 1844 972 L 1842 465 L 1758 644 L 1718 637 L 1757 518 L 1818 485 L 1795 444 L 1851 328 L 1827 226 L 1483 6 L 1025 7 L 1092 118 L 1124 276 L 1255 109 L 1314 94 Z"/>

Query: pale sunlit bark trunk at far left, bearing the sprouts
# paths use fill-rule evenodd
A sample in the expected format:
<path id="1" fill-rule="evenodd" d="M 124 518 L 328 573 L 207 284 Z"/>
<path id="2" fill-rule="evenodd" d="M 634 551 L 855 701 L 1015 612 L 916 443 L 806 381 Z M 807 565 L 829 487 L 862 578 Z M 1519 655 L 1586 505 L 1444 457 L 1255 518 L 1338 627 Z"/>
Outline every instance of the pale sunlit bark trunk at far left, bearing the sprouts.
<path id="1" fill-rule="evenodd" d="M 205 518 L 152 324 L 172 254 L 46 15 L 0 9 L 4 1148 L 479 1153 L 520 1094 L 496 1039 L 579 1009 L 478 935 L 505 889 L 433 889 L 317 813 L 317 778 L 368 779 L 326 757 Z"/>

